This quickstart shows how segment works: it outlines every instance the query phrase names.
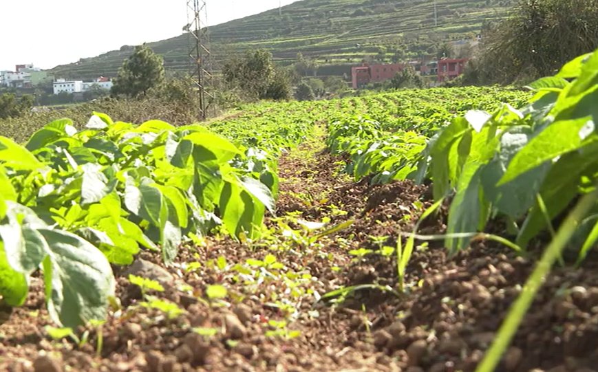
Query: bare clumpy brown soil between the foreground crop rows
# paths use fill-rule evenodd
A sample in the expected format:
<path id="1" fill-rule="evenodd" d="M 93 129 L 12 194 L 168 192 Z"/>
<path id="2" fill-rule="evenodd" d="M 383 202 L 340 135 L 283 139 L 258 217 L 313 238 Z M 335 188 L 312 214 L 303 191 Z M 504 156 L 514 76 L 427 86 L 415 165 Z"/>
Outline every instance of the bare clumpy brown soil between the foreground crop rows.
<path id="1" fill-rule="evenodd" d="M 119 269 L 122 309 L 111 313 L 101 332 L 90 328 L 81 346 L 52 340 L 44 329 L 50 321 L 41 279 L 33 278 L 26 305 L 0 311 L 0 371 L 473 371 L 533 258 L 481 243 L 449 259 L 440 244 L 422 244 L 407 268 L 404 294 L 363 289 L 343 303 L 318 300 L 341 286 L 396 288 L 394 259 L 349 252 L 394 247 L 397 232 L 411 230 L 430 204 L 426 186 L 354 183 L 338 174 L 337 161 L 324 152 L 281 159 L 278 217 L 268 220 L 273 233 L 263 241 L 207 238 L 182 248 L 168 274 L 155 275 L 167 290 L 154 295 L 178 304 L 184 310 L 178 317 L 139 306 L 138 288 Z M 285 219 L 290 212 L 295 217 Z M 421 232 L 442 233 L 443 215 Z M 277 230 L 285 224 L 299 230 L 297 219 L 325 218 L 329 226 L 354 223 L 307 243 Z M 314 234 L 304 232 L 301 239 Z M 262 267 L 256 270 L 261 274 L 235 269 L 266 254 L 282 268 Z M 220 257 L 226 263 L 220 259 L 218 267 Z M 160 263 L 156 254 L 140 258 Z M 189 263 L 197 264 L 189 270 Z M 597 268 L 590 259 L 581 269 L 556 268 L 546 278 L 498 371 L 598 371 Z M 226 286 L 226 298 L 206 300 L 213 284 Z M 288 325 L 273 334 L 272 321 L 283 320 Z"/>

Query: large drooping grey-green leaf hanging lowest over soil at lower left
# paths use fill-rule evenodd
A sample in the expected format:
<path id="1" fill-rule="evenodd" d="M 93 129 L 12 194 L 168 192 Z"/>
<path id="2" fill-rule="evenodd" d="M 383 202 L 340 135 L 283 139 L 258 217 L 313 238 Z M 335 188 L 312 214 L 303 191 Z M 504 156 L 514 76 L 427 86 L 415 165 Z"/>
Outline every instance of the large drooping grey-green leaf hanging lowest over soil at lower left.
<path id="1" fill-rule="evenodd" d="M 114 276 L 106 257 L 74 234 L 41 228 L 49 248 L 43 262 L 47 308 L 54 322 L 78 327 L 105 319 Z"/>

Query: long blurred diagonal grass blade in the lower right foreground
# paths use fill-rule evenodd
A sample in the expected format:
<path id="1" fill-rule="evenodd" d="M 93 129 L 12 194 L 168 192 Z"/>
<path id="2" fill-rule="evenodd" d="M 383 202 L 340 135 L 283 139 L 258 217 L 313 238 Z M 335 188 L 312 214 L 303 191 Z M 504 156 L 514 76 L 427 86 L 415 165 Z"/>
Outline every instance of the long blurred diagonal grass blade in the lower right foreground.
<path id="1" fill-rule="evenodd" d="M 519 328 L 527 310 L 531 306 L 537 291 L 542 286 L 544 278 L 548 275 L 553 267 L 555 261 L 561 256 L 562 250 L 568 243 L 569 239 L 575 233 L 575 229 L 579 226 L 582 219 L 590 212 L 598 200 L 598 189 L 592 191 L 579 200 L 573 211 L 569 213 L 565 221 L 559 228 L 555 238 L 551 241 L 542 255 L 542 259 L 537 263 L 532 274 L 529 276 L 521 294 L 509 310 L 506 319 L 502 322 L 498 335 L 488 352 L 486 353 L 482 363 L 476 369 L 476 372 L 492 372 L 495 370 L 502 354 L 509 346 L 515 332 Z"/>

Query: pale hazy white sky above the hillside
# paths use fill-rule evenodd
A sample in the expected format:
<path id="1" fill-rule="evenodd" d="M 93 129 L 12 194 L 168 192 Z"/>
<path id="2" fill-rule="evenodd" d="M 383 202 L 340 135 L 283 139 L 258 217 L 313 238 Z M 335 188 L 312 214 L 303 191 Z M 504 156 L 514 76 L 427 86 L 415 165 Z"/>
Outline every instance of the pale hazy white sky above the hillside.
<path id="1" fill-rule="evenodd" d="M 277 8 L 279 0 L 207 3 L 209 24 L 216 25 Z M 0 70 L 21 63 L 48 69 L 178 36 L 187 17 L 186 0 L 6 0 L 0 14 Z"/>

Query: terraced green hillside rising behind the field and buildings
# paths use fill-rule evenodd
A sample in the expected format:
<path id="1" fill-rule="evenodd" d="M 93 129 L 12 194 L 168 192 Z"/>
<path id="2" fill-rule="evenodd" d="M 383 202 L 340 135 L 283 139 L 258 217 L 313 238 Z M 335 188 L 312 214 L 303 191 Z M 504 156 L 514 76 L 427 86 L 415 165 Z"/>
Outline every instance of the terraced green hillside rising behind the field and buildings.
<path id="1" fill-rule="evenodd" d="M 303 0 L 211 28 L 216 65 L 226 56 L 248 48 L 267 48 L 279 63 L 288 64 L 301 52 L 317 58 L 321 74 L 343 74 L 348 65 L 375 56 L 384 47 L 390 60 L 397 49 L 408 54 L 434 52 L 444 41 L 471 39 L 482 23 L 506 15 L 513 0 L 438 0 L 438 26 L 431 0 Z M 189 65 L 186 34 L 149 43 L 164 56 L 168 69 Z M 52 69 L 58 77 L 114 76 L 131 46 L 95 58 Z"/>

